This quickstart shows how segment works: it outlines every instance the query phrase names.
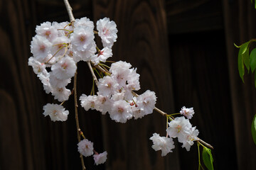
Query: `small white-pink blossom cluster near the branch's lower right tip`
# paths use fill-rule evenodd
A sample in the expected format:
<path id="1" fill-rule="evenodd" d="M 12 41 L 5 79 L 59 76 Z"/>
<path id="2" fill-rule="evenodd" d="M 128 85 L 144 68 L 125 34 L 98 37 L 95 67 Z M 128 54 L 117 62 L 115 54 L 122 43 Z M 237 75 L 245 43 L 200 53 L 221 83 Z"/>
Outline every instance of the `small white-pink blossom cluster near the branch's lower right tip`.
<path id="1" fill-rule="evenodd" d="M 186 108 L 185 106 L 181 108 L 181 115 L 185 115 L 187 118 L 192 118 L 194 114 L 193 108 Z M 198 140 L 198 130 L 196 127 L 192 127 L 189 120 L 184 116 L 171 118 L 168 123 L 168 128 L 166 129 L 167 135 L 169 137 L 161 137 L 159 134 L 154 133 L 150 140 L 152 140 L 152 148 L 156 151 L 161 150 L 161 156 L 164 157 L 171 149 L 174 149 L 173 138 L 178 138 L 178 142 L 181 142 L 187 151 L 190 150 L 193 142 Z"/>

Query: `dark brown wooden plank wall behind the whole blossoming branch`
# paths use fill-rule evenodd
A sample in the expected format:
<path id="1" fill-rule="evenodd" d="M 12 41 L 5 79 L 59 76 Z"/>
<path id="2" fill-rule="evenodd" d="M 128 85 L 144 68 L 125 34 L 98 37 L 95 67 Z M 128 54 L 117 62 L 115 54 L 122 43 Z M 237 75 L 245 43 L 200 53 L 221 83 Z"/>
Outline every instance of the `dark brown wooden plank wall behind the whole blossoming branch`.
<path id="1" fill-rule="evenodd" d="M 108 17 L 119 30 L 110 60 L 137 67 L 142 94 L 156 92 L 156 107 L 177 113 L 193 107 L 191 123 L 213 145 L 215 169 L 256 169 L 250 126 L 256 113 L 252 74 L 238 74 L 240 45 L 256 38 L 256 10 L 250 0 L 70 0 L 75 18 Z M 43 116 L 41 81 L 28 67 L 35 28 L 46 21 L 69 21 L 61 0 L 0 1 L 0 169 L 81 169 L 73 96 L 64 106 L 66 122 Z M 90 94 L 92 77 L 78 64 L 78 96 Z M 73 85 L 70 84 L 69 89 Z M 115 123 L 109 115 L 79 107 L 80 128 L 105 164 L 87 169 L 198 169 L 197 146 L 190 152 L 176 141 L 161 157 L 151 148 L 154 132 L 166 135 L 166 119 L 154 112 L 139 120 Z"/>

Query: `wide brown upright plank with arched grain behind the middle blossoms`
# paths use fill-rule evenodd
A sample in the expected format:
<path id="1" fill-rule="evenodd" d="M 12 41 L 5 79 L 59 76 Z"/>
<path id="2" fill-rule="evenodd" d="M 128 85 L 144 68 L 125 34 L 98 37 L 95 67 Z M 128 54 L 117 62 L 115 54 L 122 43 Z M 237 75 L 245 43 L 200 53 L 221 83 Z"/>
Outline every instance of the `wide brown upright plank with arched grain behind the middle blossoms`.
<path id="1" fill-rule="evenodd" d="M 93 1 L 94 18 L 108 17 L 117 23 L 118 38 L 112 60 L 123 60 L 137 67 L 142 94 L 156 92 L 157 107 L 172 113 L 174 101 L 169 69 L 164 1 Z M 165 118 L 153 113 L 140 120 L 114 123 L 103 118 L 105 148 L 110 159 L 107 169 L 179 169 L 178 152 L 161 157 L 151 149 L 154 132 L 166 135 Z"/>

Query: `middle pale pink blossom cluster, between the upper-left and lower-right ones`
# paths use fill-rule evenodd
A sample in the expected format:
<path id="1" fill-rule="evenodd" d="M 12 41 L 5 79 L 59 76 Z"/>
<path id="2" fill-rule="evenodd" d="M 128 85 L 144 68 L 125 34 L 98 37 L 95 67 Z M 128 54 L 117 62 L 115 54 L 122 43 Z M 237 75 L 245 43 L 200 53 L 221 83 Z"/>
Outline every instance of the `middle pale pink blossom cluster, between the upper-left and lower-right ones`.
<path id="1" fill-rule="evenodd" d="M 139 74 L 131 69 L 127 62 L 115 62 L 110 67 L 110 75 L 99 79 L 97 95 L 80 96 L 81 106 L 109 113 L 110 118 L 119 123 L 126 123 L 130 118 L 142 118 L 153 113 L 156 104 L 154 91 L 145 91 L 139 96 L 133 91 L 140 89 Z"/>

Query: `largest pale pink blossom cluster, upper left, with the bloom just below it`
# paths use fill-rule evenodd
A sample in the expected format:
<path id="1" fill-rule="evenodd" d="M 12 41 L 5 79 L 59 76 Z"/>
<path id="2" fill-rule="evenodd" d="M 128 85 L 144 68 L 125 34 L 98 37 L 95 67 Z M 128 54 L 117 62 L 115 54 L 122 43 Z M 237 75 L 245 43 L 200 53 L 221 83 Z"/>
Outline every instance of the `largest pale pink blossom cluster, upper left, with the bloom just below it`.
<path id="1" fill-rule="evenodd" d="M 76 63 L 92 61 L 99 64 L 112 57 L 111 47 L 117 40 L 116 27 L 109 18 L 97 21 L 97 33 L 103 44 L 103 49 L 97 51 L 94 23 L 86 17 L 76 19 L 73 26 L 68 22 L 45 22 L 36 26 L 36 35 L 31 41 L 33 57 L 28 59 L 28 65 L 33 67 L 46 93 L 51 93 L 60 102 L 67 101 L 71 91 L 66 86 L 75 75 Z M 65 109 L 56 104 L 48 103 L 43 110 L 43 114 L 50 115 L 53 121 L 68 118 Z"/>

